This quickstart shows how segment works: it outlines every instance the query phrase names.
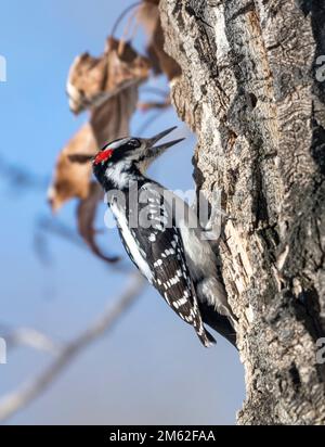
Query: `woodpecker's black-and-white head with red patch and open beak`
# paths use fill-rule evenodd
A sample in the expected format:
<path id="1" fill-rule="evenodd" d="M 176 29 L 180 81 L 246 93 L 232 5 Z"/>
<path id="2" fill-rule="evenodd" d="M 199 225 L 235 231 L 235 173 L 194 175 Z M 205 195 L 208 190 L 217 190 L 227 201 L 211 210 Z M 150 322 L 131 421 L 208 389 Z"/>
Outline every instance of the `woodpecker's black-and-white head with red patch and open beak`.
<path id="1" fill-rule="evenodd" d="M 164 130 L 152 138 L 120 138 L 106 144 L 93 158 L 93 173 L 103 184 L 106 179 L 122 181 L 126 173 L 136 171 L 144 175 L 147 167 L 168 148 L 179 143 L 183 138 L 155 145 L 159 140 L 174 130 Z M 126 177 L 126 176 L 125 176 Z"/>

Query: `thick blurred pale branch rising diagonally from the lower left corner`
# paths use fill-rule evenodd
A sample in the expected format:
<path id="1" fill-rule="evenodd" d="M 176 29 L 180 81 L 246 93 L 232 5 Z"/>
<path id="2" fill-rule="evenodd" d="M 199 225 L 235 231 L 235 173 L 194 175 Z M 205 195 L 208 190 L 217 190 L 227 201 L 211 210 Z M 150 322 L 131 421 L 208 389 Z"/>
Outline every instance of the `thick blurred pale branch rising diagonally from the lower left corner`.
<path id="1" fill-rule="evenodd" d="M 3 421 L 38 397 L 92 342 L 110 331 L 134 303 L 144 288 L 144 280 L 134 274 L 119 299 L 83 332 L 72 340 L 38 375 L 0 400 L 0 420 Z"/>

